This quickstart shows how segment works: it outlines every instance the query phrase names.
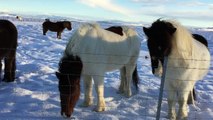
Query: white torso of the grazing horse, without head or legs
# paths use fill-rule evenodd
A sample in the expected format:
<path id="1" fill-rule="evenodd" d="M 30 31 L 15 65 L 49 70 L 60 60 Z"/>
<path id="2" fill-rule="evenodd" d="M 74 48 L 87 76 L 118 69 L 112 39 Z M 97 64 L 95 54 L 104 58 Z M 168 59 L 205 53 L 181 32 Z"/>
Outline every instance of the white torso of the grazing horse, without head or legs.
<path id="1" fill-rule="evenodd" d="M 125 64 L 135 64 L 140 51 L 140 40 L 135 36 L 136 32 L 127 31 L 128 34 L 123 32 L 124 35 L 120 36 L 96 25 L 80 27 L 71 37 L 66 54 L 79 56 L 85 73 L 111 71 Z"/>

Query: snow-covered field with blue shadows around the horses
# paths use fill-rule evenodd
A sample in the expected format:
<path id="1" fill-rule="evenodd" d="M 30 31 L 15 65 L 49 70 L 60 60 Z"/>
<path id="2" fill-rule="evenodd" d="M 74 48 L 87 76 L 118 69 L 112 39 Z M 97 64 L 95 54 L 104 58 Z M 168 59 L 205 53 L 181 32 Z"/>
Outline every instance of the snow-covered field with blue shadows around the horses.
<path id="1" fill-rule="evenodd" d="M 42 21 L 42 20 L 41 20 Z M 58 80 L 55 71 L 62 57 L 68 38 L 72 36 L 80 22 L 72 22 L 73 30 L 65 30 L 62 39 L 56 33 L 42 34 L 41 21 L 14 21 L 18 29 L 17 74 L 13 83 L 0 82 L 0 120 L 62 120 L 60 115 L 60 99 Z M 141 52 L 138 59 L 140 75 L 139 92 L 125 98 L 117 94 L 120 83 L 118 71 L 106 74 L 105 100 L 106 111 L 92 111 L 95 105 L 80 107 L 83 101 L 83 87 L 73 118 L 75 120 L 155 120 L 160 79 L 151 73 L 150 59 L 146 37 L 141 25 L 127 23 L 100 22 L 104 28 L 112 25 L 128 25 L 134 27 L 141 38 Z M 191 28 L 193 33 L 205 36 L 209 42 L 209 50 L 213 56 L 213 29 Z M 211 57 L 213 60 L 213 57 Z M 82 83 L 81 83 L 82 84 Z M 196 107 L 189 106 L 189 120 L 213 119 L 213 62 L 208 75 L 196 84 Z M 95 92 L 94 96 L 95 96 Z M 164 93 L 161 119 L 166 120 L 167 99 Z M 96 102 L 96 100 L 95 100 Z"/>

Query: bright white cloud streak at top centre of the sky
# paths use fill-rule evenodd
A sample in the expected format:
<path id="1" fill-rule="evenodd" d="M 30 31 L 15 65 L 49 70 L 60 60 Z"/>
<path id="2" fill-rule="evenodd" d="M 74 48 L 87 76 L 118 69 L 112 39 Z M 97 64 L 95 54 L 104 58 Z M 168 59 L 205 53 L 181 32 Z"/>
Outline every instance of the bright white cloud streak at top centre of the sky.
<path id="1" fill-rule="evenodd" d="M 99 7 L 123 15 L 129 15 L 131 13 L 130 10 L 113 3 L 112 0 L 80 0 L 80 2 L 91 7 Z"/>

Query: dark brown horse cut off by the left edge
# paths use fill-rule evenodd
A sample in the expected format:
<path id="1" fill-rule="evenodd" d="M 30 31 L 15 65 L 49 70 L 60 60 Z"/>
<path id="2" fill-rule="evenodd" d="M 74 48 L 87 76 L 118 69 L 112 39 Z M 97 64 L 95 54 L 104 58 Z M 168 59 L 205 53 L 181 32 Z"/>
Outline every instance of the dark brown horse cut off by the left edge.
<path id="1" fill-rule="evenodd" d="M 0 60 L 5 62 L 3 81 L 6 82 L 15 80 L 17 37 L 15 25 L 8 20 L 0 20 Z M 1 70 L 0 61 L 0 75 Z"/>

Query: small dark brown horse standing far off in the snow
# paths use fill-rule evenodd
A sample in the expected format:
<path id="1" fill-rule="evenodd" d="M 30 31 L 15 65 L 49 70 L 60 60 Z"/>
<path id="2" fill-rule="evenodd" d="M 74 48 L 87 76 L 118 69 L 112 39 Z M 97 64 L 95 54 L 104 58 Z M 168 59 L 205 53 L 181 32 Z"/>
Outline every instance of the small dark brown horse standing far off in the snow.
<path id="1" fill-rule="evenodd" d="M 51 22 L 49 19 L 45 20 L 42 24 L 43 26 L 43 35 L 46 35 L 48 30 L 52 32 L 57 32 L 57 38 L 61 39 L 61 33 L 65 28 L 68 30 L 72 30 L 71 22 L 69 21 L 59 21 L 59 22 Z"/>

